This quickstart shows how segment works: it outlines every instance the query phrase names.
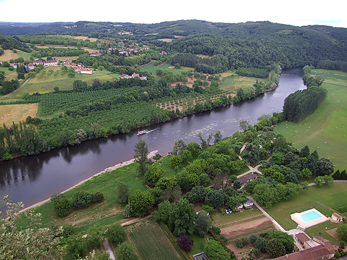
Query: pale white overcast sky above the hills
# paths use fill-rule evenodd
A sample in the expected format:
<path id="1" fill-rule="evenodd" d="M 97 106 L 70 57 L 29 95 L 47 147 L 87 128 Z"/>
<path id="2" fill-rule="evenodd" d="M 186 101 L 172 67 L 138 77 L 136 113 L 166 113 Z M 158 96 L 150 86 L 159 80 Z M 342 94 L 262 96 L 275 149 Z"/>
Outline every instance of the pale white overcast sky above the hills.
<path id="1" fill-rule="evenodd" d="M 270 21 L 347 28 L 347 1 L 330 0 L 0 0 L 5 22 L 158 23 L 198 19 L 239 23 Z"/>

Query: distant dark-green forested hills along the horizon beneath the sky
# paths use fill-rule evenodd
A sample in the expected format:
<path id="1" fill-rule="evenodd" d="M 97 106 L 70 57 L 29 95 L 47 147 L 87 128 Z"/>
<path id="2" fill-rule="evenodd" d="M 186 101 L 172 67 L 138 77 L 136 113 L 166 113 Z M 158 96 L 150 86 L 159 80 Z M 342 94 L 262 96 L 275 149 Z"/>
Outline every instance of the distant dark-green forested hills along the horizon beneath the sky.
<path id="1" fill-rule="evenodd" d="M 175 53 L 217 56 L 212 63 L 227 69 L 318 65 L 321 60 L 347 61 L 347 29 L 330 26 L 291 26 L 262 22 L 212 23 L 179 20 L 156 24 L 79 21 L 59 23 L 0 23 L 3 35 L 69 34 L 143 42 Z M 177 36 L 183 36 L 177 39 Z M 174 39 L 172 42 L 157 41 Z M 3 48 L 4 49 L 4 48 Z M 205 64 L 209 65 L 206 60 Z M 214 64 L 212 64 L 214 66 Z"/>

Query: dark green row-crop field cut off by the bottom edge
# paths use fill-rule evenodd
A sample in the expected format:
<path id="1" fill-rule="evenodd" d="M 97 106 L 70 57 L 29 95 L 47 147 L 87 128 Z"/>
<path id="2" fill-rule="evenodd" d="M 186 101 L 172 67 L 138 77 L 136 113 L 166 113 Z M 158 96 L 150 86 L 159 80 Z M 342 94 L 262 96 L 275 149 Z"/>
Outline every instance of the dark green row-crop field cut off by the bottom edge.
<path id="1" fill-rule="evenodd" d="M 182 259 L 156 222 L 143 220 L 128 226 L 126 233 L 140 260 Z"/>

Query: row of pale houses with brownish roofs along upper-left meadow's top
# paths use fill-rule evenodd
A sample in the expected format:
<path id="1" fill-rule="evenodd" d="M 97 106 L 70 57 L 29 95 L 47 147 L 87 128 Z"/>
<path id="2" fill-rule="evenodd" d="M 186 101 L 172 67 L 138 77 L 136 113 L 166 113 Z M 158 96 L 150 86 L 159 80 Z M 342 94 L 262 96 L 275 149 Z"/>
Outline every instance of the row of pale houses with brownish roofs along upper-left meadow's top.
<path id="1" fill-rule="evenodd" d="M 50 67 L 50 66 L 58 66 L 58 65 L 65 65 L 67 67 L 73 67 L 75 72 L 81 73 L 81 74 L 93 74 L 93 71 L 91 69 L 87 69 L 84 67 L 84 65 L 81 62 L 78 63 L 73 63 L 71 59 L 66 59 L 59 63 L 58 60 L 47 60 L 47 61 L 42 61 L 42 60 L 35 60 L 33 62 L 30 62 L 28 64 L 24 63 L 9 63 L 10 66 L 13 68 L 17 68 L 18 66 L 24 66 L 24 69 L 26 72 L 29 72 L 31 69 L 34 69 L 35 66 L 38 66 L 42 64 L 45 67 Z"/>

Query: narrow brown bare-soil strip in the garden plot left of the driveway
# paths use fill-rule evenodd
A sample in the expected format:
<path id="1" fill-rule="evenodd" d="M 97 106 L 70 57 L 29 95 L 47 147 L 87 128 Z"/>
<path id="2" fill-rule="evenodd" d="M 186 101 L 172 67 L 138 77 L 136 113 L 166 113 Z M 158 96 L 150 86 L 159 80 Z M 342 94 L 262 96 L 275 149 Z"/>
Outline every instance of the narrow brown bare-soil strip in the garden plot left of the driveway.
<path id="1" fill-rule="evenodd" d="M 226 237 L 231 237 L 234 235 L 244 233 L 244 232 L 251 230 L 251 229 L 266 226 L 266 225 L 271 224 L 271 223 L 272 222 L 270 219 L 268 219 L 267 217 L 265 217 L 265 218 L 262 217 L 262 218 L 258 218 L 258 219 L 251 220 L 248 222 L 244 222 L 244 223 L 240 223 L 240 224 L 236 224 L 236 225 L 231 225 L 228 227 L 223 227 L 223 228 L 221 228 L 221 235 L 225 235 Z"/>

